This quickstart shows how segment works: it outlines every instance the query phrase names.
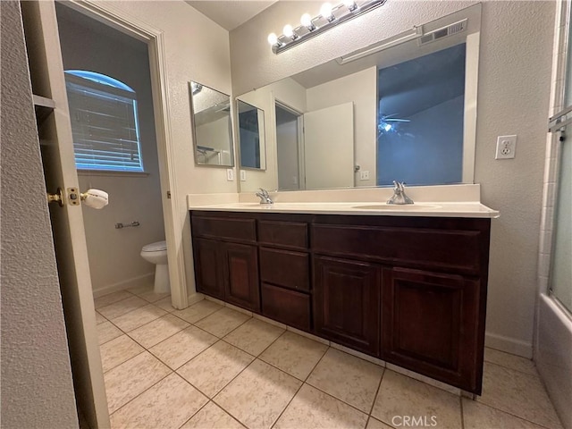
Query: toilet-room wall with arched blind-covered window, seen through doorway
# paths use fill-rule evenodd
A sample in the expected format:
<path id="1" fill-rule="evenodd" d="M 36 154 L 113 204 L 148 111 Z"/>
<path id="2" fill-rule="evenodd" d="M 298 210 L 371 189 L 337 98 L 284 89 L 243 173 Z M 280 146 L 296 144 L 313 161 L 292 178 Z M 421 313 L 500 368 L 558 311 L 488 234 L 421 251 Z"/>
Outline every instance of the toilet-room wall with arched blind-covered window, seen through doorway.
<path id="1" fill-rule="evenodd" d="M 139 254 L 164 240 L 164 216 L 147 44 L 55 11 L 80 189 L 109 194 L 103 210 L 82 210 L 94 294 L 152 285 L 155 265 Z"/>

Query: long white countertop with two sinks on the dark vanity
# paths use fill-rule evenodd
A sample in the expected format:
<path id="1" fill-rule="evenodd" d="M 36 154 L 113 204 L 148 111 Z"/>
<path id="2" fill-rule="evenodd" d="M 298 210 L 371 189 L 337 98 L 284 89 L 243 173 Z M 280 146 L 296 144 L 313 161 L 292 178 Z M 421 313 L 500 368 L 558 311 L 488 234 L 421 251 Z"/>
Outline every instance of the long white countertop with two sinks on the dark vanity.
<path id="1" fill-rule="evenodd" d="M 384 202 L 278 202 L 272 205 L 258 203 L 227 203 L 199 205 L 189 200 L 189 210 L 255 213 L 303 214 L 357 214 L 368 216 L 425 216 L 497 218 L 499 212 L 478 202 L 421 202 L 413 205 L 388 205 Z"/>

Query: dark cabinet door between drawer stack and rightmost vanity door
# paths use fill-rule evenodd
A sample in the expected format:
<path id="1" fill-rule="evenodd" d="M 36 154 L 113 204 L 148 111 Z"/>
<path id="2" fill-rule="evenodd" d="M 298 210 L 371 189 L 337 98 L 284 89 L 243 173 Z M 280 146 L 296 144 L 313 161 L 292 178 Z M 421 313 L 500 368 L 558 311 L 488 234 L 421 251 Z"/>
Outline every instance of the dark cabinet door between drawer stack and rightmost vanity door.
<path id="1" fill-rule="evenodd" d="M 314 257 L 315 331 L 377 357 L 380 289 L 377 265 Z"/>

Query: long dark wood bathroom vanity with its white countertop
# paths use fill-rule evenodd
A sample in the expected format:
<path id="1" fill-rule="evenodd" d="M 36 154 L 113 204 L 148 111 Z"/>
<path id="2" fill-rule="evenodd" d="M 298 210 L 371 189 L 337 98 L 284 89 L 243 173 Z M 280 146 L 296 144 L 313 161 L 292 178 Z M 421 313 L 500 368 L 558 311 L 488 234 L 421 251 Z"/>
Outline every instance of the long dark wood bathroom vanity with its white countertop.
<path id="1" fill-rule="evenodd" d="M 197 290 L 480 394 L 498 212 L 453 206 L 197 207 Z"/>

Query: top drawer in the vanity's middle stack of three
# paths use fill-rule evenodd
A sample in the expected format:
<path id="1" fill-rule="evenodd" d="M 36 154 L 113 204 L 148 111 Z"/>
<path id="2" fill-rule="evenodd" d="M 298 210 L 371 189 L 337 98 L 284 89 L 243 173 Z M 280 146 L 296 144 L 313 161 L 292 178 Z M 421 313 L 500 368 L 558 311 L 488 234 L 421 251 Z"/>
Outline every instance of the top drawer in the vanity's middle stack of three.
<path id="1" fill-rule="evenodd" d="M 258 242 L 284 248 L 307 248 L 307 223 L 259 221 Z"/>

